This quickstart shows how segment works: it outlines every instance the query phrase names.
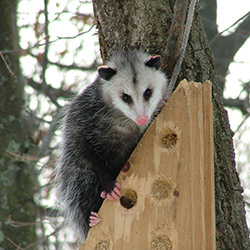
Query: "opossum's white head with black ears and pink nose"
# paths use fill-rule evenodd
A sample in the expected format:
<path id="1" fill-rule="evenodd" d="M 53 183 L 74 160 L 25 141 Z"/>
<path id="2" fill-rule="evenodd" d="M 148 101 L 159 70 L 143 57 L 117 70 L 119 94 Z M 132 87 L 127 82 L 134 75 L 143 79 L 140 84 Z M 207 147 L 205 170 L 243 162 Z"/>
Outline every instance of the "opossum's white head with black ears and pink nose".
<path id="1" fill-rule="evenodd" d="M 138 126 L 147 125 L 165 99 L 167 78 L 160 70 L 161 57 L 141 51 L 116 52 L 100 66 L 105 102 Z"/>

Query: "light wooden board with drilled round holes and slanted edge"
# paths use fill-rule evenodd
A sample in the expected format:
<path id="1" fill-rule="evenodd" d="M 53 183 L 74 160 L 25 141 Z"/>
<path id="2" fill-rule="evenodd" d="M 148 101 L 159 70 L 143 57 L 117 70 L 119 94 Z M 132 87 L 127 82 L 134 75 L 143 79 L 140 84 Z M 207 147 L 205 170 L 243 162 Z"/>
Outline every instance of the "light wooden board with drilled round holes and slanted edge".
<path id="1" fill-rule="evenodd" d="M 81 250 L 216 249 L 212 112 L 209 81 L 179 84 L 118 176 L 123 205 L 104 201 Z"/>

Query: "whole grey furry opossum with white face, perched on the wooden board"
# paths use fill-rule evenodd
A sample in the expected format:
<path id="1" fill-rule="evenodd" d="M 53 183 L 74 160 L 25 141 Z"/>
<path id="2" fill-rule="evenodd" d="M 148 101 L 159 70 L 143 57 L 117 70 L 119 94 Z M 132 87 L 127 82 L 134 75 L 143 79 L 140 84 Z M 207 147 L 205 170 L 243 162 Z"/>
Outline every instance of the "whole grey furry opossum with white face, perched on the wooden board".
<path id="1" fill-rule="evenodd" d="M 166 95 L 159 56 L 121 51 L 107 65 L 65 115 L 56 168 L 60 210 L 81 242 L 91 212 L 119 197 L 116 177 Z"/>

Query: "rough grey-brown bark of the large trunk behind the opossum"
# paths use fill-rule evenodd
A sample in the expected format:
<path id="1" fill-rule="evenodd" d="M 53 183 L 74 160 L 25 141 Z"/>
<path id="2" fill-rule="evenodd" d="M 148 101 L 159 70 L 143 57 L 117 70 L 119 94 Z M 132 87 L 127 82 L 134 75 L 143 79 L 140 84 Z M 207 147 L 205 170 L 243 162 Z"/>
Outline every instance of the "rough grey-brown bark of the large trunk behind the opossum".
<path id="1" fill-rule="evenodd" d="M 93 5 L 104 60 L 111 50 L 126 48 L 144 48 L 166 58 L 164 50 L 174 1 L 94 0 Z M 217 248 L 250 249 L 242 188 L 235 169 L 233 134 L 216 82 L 213 56 L 197 12 L 179 76 L 182 78 L 213 82 Z"/>

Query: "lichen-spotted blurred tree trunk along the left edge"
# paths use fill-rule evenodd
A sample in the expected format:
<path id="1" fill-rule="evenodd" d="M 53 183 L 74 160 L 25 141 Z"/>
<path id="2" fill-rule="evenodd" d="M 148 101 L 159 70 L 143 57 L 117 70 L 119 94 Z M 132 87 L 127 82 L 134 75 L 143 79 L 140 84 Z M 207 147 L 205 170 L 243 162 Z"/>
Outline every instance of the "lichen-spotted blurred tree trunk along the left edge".
<path id="1" fill-rule="evenodd" d="M 3 52 L 17 48 L 16 5 L 15 0 L 0 1 L 0 51 Z M 17 54 L 1 55 L 0 246 L 6 250 L 16 249 L 18 245 L 27 247 L 36 240 L 36 210 L 32 199 L 34 165 L 25 158 L 32 144 L 23 128 L 23 91 Z M 13 225 L 14 222 L 31 222 L 32 225 Z"/>

